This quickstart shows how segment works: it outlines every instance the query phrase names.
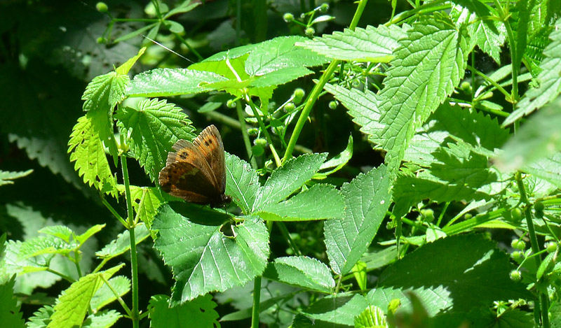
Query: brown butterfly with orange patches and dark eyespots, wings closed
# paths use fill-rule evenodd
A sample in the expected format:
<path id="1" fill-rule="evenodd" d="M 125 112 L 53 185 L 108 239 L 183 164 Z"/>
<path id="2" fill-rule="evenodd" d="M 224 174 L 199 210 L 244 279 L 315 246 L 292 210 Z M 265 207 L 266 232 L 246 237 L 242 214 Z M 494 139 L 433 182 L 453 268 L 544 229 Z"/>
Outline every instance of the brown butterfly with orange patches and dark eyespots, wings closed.
<path id="1" fill-rule="evenodd" d="M 219 207 L 231 197 L 226 190 L 224 145 L 214 125 L 206 127 L 193 143 L 179 140 L 168 153 L 158 178 L 163 191 L 196 204 Z"/>

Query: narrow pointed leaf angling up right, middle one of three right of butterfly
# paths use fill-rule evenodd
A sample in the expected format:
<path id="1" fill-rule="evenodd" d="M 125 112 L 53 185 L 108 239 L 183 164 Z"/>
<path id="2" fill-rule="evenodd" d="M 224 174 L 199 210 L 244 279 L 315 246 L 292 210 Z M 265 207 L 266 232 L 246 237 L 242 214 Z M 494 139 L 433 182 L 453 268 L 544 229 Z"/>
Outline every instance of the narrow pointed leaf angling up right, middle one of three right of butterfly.
<path id="1" fill-rule="evenodd" d="M 326 158 L 327 154 L 305 154 L 290 159 L 284 166 L 273 171 L 259 192 L 253 211 L 281 201 L 298 190 L 313 177 Z"/>

